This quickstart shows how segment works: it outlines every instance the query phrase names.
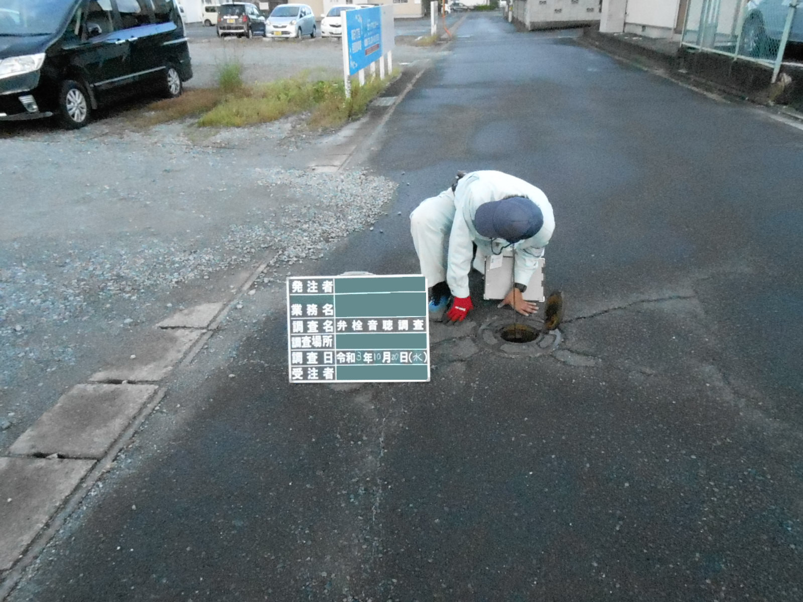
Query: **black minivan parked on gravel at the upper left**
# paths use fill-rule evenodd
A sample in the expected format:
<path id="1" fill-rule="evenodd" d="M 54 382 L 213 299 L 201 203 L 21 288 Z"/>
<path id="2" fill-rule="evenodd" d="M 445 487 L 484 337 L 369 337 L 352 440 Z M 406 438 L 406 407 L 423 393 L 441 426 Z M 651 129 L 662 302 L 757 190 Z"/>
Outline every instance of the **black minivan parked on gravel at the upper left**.
<path id="1" fill-rule="evenodd" d="M 0 0 L 0 120 L 80 128 L 120 96 L 179 96 L 192 75 L 175 0 Z"/>

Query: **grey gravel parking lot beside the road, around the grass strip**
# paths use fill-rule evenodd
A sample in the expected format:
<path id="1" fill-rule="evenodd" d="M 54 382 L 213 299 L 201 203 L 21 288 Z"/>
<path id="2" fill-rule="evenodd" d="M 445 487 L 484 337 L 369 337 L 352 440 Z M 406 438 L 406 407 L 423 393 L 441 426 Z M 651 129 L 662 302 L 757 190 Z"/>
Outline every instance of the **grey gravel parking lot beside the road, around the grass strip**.
<path id="1" fill-rule="evenodd" d="M 339 73 L 336 40 L 192 43 L 194 87 L 238 59 L 248 80 Z M 437 49 L 397 47 L 395 62 Z M 65 132 L 0 126 L 0 449 L 104 357 L 178 307 L 226 299 L 267 254 L 287 266 L 372 222 L 395 183 L 359 170 L 305 169 L 328 134 L 299 118 L 207 131 L 142 130 L 136 101 Z M 275 280 L 273 280 L 275 279 Z"/>

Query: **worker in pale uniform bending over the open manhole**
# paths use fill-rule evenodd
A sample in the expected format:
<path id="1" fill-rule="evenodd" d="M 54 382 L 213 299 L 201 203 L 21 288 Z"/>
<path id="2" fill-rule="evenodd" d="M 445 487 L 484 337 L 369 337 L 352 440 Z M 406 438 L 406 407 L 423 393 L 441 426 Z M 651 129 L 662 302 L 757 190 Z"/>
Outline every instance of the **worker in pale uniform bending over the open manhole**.
<path id="1" fill-rule="evenodd" d="M 546 195 L 518 177 L 497 171 L 458 174 L 454 185 L 422 201 L 410 214 L 410 233 L 430 287 L 430 312 L 446 308 L 446 318 L 461 322 L 474 309 L 468 290 L 472 242 L 474 266 L 484 272 L 484 260 L 512 247 L 514 284 L 499 307 L 510 305 L 522 315 L 538 309 L 524 300 L 537 260 L 552 238 L 555 218 Z M 445 253 L 448 238 L 448 254 Z M 445 256 L 446 255 L 446 256 Z"/>

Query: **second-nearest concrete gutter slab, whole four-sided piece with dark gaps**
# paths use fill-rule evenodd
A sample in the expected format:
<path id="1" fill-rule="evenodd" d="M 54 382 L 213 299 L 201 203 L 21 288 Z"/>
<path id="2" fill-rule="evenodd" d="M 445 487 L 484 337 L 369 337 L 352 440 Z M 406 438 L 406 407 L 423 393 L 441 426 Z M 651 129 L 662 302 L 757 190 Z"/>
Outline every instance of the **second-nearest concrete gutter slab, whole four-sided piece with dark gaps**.
<path id="1" fill-rule="evenodd" d="M 9 451 L 22 456 L 103 458 L 157 389 L 155 384 L 77 384 Z"/>

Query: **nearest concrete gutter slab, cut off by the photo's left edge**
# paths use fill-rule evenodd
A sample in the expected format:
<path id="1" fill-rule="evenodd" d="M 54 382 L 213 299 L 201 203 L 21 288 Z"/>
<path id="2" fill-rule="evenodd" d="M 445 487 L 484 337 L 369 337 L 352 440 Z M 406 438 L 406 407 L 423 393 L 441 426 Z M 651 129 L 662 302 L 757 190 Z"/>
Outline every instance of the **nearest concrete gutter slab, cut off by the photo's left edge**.
<path id="1" fill-rule="evenodd" d="M 14 564 L 94 463 L 0 458 L 0 571 Z"/>

